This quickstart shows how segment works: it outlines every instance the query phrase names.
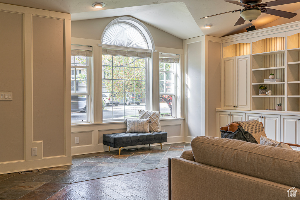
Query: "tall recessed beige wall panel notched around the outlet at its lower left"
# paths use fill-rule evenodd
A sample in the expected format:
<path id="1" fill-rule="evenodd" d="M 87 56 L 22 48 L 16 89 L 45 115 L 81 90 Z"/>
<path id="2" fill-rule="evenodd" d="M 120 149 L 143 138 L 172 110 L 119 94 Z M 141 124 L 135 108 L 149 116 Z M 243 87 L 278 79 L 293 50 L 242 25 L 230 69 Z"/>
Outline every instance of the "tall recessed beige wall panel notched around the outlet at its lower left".
<path id="1" fill-rule="evenodd" d="M 44 157 L 64 155 L 64 21 L 32 17 L 33 140 Z"/>

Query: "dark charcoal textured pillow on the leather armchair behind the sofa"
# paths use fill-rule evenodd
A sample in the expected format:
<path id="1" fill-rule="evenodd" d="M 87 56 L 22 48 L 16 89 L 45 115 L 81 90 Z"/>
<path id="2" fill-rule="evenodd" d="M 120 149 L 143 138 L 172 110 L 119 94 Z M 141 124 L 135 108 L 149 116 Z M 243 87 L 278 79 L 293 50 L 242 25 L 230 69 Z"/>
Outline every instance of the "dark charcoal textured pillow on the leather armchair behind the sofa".
<path id="1" fill-rule="evenodd" d="M 245 131 L 240 125 L 238 125 L 238 130 L 236 130 L 235 132 L 226 131 L 226 130 L 220 130 L 220 131 L 221 131 L 222 138 L 238 139 L 238 140 L 243 140 L 246 142 L 258 144 L 255 138 L 248 131 Z"/>

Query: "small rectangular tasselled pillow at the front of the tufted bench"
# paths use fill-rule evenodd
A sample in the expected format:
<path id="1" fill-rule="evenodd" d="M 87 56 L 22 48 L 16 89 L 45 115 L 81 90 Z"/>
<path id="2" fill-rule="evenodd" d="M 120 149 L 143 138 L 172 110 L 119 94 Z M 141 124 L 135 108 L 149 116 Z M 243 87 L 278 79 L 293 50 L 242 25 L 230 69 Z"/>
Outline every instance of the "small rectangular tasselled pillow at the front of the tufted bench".
<path id="1" fill-rule="evenodd" d="M 126 119 L 126 133 L 149 133 L 150 119 Z"/>

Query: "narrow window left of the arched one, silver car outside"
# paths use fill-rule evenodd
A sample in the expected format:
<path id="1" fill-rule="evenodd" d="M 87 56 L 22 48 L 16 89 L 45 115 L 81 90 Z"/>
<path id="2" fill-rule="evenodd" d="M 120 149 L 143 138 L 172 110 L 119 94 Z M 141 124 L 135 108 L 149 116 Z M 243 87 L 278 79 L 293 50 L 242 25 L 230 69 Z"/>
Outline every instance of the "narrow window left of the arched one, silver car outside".
<path id="1" fill-rule="evenodd" d="M 87 122 L 90 98 L 89 57 L 71 55 L 71 121 Z"/>

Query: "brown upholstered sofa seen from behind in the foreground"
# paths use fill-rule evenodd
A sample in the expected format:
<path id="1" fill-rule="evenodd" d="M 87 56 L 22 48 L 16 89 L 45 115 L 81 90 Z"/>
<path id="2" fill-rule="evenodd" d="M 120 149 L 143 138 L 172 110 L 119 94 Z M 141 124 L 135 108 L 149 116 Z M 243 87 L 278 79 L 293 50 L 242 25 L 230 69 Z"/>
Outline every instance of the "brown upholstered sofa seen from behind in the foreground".
<path id="1" fill-rule="evenodd" d="M 169 200 L 300 198 L 299 172 L 299 151 L 198 136 L 169 160 Z"/>

